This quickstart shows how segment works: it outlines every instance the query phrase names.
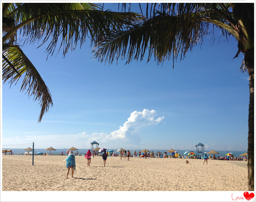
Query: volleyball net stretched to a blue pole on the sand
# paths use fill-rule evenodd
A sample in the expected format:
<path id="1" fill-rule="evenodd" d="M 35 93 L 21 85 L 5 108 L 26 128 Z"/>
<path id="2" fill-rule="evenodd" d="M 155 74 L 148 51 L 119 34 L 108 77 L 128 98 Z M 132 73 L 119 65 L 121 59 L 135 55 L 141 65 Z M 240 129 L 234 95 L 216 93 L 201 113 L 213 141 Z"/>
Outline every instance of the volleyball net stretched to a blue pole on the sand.
<path id="1" fill-rule="evenodd" d="M 27 144 L 2 145 L 3 155 L 32 155 L 32 165 L 34 165 L 34 142 Z"/>

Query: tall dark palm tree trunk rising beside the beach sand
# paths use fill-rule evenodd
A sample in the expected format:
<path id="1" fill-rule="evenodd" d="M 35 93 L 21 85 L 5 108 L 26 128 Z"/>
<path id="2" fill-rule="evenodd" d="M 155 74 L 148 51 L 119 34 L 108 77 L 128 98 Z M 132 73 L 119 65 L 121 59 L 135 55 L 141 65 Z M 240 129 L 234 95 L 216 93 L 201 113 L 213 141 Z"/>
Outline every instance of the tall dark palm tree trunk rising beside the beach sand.
<path id="1" fill-rule="evenodd" d="M 245 53 L 244 59 L 249 74 L 249 118 L 248 118 L 248 190 L 254 191 L 254 51 L 250 49 Z"/>

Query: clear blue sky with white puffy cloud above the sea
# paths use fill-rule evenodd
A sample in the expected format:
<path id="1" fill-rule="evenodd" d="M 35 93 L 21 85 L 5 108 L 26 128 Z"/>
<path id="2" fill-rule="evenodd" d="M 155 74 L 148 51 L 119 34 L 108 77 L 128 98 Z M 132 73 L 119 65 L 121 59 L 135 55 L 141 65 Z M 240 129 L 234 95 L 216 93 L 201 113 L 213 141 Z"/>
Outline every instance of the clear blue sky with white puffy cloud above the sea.
<path id="1" fill-rule="evenodd" d="M 136 12 L 136 11 L 135 11 Z M 139 11 L 138 11 L 139 12 Z M 35 148 L 105 148 L 247 151 L 248 74 L 233 59 L 237 42 L 219 32 L 185 59 L 157 66 L 92 60 L 89 41 L 49 56 L 37 45 L 22 50 L 48 86 L 54 106 L 37 123 L 40 106 L 2 85 L 2 144 L 35 142 Z M 146 58 L 146 57 L 145 57 Z"/>

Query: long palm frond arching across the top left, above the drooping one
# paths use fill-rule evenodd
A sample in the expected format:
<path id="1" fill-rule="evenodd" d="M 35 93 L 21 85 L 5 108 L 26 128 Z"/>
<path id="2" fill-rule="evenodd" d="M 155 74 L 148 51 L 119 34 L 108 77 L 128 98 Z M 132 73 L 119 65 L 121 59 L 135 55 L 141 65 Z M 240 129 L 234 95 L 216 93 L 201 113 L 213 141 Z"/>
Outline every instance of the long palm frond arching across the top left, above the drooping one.
<path id="1" fill-rule="evenodd" d="M 81 47 L 86 36 L 90 36 L 94 43 L 112 29 L 131 25 L 142 18 L 136 13 L 96 10 L 98 5 L 87 3 L 24 3 L 19 6 L 12 16 L 16 19 L 16 26 L 3 36 L 3 42 L 11 33 L 20 29 L 22 43 L 40 41 L 42 45 L 49 40 L 46 51 L 53 54 L 60 44 L 64 56 L 68 50 L 74 50 L 78 41 Z"/>

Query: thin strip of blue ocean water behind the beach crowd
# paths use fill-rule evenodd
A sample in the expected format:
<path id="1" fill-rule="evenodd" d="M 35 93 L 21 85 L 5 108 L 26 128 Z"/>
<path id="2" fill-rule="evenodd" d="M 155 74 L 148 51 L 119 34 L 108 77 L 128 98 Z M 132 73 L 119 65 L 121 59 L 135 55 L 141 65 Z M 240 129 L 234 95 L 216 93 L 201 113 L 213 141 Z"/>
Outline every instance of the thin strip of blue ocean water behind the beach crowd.
<path id="1" fill-rule="evenodd" d="M 22 149 L 3 148 L 3 149 L 7 149 L 7 150 L 11 149 L 13 151 L 14 155 L 19 155 L 19 154 L 21 155 L 22 153 L 27 152 L 27 151 L 24 151 L 25 148 L 22 148 Z M 127 148 L 124 148 L 124 149 L 127 151 L 130 150 L 131 154 L 134 154 L 134 151 L 136 151 L 138 153 L 139 151 L 143 150 L 143 149 L 127 149 Z M 109 150 L 111 150 L 111 149 L 107 149 L 106 151 L 109 151 Z M 114 150 L 116 152 L 118 149 L 112 149 L 112 150 Z M 56 151 L 53 150 L 53 151 L 51 151 L 51 155 L 58 156 L 59 154 L 61 154 L 62 151 L 65 153 L 65 155 L 67 155 L 67 153 L 66 153 L 68 151 L 67 149 L 56 149 Z M 86 152 L 88 151 L 88 149 L 78 149 L 77 151 L 78 151 L 78 155 L 84 156 L 86 154 Z M 77 153 L 77 151 L 74 151 L 74 153 Z M 164 154 L 164 152 L 167 152 L 168 150 L 158 150 L 158 149 L 152 150 L 151 149 L 149 151 L 151 151 L 151 152 L 154 151 L 154 154 L 156 156 L 156 152 L 161 152 L 162 154 Z M 181 156 L 184 155 L 184 153 L 186 151 L 191 152 L 191 150 L 177 150 L 178 154 L 180 154 Z M 30 152 L 32 152 L 32 151 L 30 151 Z M 37 153 L 37 152 L 47 153 L 48 155 L 50 154 L 50 151 L 45 150 L 45 149 L 34 149 L 34 153 Z M 194 152 L 197 155 L 196 150 L 193 150 L 192 152 Z M 210 151 L 205 150 L 204 152 L 210 152 Z M 227 153 L 230 153 L 230 152 L 234 153 L 234 157 L 237 157 L 237 156 L 240 157 L 241 154 L 243 154 L 247 151 L 242 151 L 242 152 L 239 152 L 239 151 L 217 151 L 217 152 L 219 152 L 219 154 L 215 154 L 216 157 L 224 157 Z M 116 153 L 120 154 L 120 152 L 116 152 Z M 8 154 L 9 153 L 7 153 L 7 155 Z M 4 155 L 4 153 L 3 153 L 3 155 Z M 172 153 L 168 152 L 167 155 L 172 155 Z M 199 153 L 198 156 L 199 155 L 201 155 L 201 157 L 203 156 L 202 153 Z M 187 155 L 184 155 L 184 157 L 186 157 L 186 156 Z M 208 154 L 208 156 L 213 156 L 213 154 Z"/>

